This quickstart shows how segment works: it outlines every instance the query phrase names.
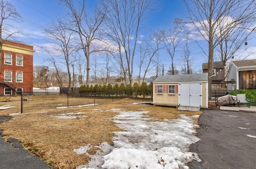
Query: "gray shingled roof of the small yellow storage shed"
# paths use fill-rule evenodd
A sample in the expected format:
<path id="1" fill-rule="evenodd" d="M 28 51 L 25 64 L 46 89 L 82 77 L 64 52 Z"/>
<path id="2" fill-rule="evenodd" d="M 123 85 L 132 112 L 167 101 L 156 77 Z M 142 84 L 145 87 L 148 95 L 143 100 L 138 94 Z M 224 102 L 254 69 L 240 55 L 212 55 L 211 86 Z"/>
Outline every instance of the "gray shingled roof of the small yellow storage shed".
<path id="1" fill-rule="evenodd" d="M 208 73 L 158 76 L 153 83 L 202 82 L 208 81 Z"/>

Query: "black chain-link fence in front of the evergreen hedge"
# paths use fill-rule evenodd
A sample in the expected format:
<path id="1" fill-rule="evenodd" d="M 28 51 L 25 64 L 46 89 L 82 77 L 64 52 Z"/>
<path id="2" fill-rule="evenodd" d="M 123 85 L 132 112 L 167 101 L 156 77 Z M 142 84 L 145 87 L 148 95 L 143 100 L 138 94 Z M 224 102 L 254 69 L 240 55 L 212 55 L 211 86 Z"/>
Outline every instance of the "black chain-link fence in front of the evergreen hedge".
<path id="1" fill-rule="evenodd" d="M 55 108 L 85 107 L 97 104 L 104 104 L 120 100 L 122 98 L 139 98 L 129 95 L 125 90 L 112 90 L 105 92 L 84 92 L 60 94 L 54 92 L 33 92 L 22 94 L 21 112 L 28 111 L 47 111 Z M 144 98 L 152 100 L 152 98 Z"/>

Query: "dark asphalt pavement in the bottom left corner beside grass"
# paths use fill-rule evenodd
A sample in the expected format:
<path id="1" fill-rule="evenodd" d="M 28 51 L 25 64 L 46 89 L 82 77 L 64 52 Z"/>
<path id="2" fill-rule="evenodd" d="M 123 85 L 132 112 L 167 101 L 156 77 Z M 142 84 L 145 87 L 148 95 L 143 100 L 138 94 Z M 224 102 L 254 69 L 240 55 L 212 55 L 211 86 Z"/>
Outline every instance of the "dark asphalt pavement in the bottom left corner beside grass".
<path id="1" fill-rule="evenodd" d="M 2 135 L 2 130 L 0 130 L 0 135 Z M 0 136 L 1 169 L 49 169 L 44 161 L 24 149 L 17 139 L 10 138 L 8 141 L 10 143 L 5 142 Z"/>

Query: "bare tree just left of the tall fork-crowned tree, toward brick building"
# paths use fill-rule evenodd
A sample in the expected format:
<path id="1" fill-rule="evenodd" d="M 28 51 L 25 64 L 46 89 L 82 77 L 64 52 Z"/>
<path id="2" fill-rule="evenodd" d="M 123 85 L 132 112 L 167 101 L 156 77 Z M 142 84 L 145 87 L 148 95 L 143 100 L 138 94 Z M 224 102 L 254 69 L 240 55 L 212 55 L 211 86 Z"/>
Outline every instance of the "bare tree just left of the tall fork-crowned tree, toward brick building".
<path id="1" fill-rule="evenodd" d="M 53 43 L 53 48 L 45 49 L 48 54 L 51 56 L 49 61 L 51 61 L 54 65 L 56 65 L 56 58 L 60 59 L 58 63 L 62 63 L 66 66 L 66 70 L 68 72 L 68 93 L 71 91 L 72 84 L 72 76 L 70 73 L 70 65 L 72 60 L 70 61 L 72 55 L 76 51 L 76 46 L 74 46 L 74 32 L 65 28 L 66 23 L 60 19 L 56 21 L 52 21 L 52 23 L 45 29 L 48 34 L 48 41 Z M 55 66 L 57 69 L 57 67 Z M 73 77 L 74 78 L 74 77 Z"/>

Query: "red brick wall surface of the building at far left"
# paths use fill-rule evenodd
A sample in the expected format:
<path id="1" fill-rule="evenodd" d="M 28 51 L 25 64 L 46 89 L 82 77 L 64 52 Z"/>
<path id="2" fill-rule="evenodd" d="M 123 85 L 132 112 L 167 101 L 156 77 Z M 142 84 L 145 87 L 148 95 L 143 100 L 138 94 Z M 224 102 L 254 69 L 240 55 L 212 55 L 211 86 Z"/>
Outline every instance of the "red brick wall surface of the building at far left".
<path id="1" fill-rule="evenodd" d="M 14 45 L 26 49 L 33 50 L 33 46 L 5 41 L 5 44 Z M 12 55 L 12 65 L 5 65 L 4 64 L 4 54 L 11 54 Z M 23 66 L 16 66 L 16 55 L 23 56 Z M 2 51 L 1 56 L 1 67 L 0 67 L 0 82 L 3 82 L 4 79 L 4 71 L 12 71 L 12 84 L 17 85 L 15 82 L 16 79 L 16 72 L 23 73 L 23 83 L 18 83 L 18 88 L 23 88 L 23 92 L 26 92 L 26 88 L 28 92 L 30 88 L 33 87 L 33 55 L 24 54 L 24 53 L 16 53 L 13 51 Z M 6 86 L 4 86 L 6 88 Z M 4 88 L 0 86 L 0 95 L 4 94 Z"/>

